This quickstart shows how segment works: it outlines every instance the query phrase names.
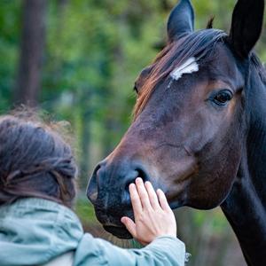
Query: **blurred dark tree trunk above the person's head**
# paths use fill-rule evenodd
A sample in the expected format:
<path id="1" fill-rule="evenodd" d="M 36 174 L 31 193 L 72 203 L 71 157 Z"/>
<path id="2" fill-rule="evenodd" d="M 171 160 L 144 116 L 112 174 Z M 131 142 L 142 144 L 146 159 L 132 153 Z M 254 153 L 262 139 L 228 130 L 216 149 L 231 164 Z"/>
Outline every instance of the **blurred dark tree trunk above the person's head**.
<path id="1" fill-rule="evenodd" d="M 36 106 L 41 89 L 46 0 L 24 0 L 16 104 Z"/>

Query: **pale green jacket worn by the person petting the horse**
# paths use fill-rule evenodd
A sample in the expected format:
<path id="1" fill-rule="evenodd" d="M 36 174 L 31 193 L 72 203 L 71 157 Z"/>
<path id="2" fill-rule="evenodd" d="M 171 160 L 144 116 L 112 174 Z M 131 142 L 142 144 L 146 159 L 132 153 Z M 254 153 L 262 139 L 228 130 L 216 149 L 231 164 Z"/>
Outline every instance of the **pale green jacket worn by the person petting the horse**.
<path id="1" fill-rule="evenodd" d="M 74 251 L 74 266 L 183 266 L 184 243 L 160 237 L 142 249 L 122 249 L 84 233 L 69 208 L 29 198 L 0 207 L 0 265 L 41 265 Z"/>

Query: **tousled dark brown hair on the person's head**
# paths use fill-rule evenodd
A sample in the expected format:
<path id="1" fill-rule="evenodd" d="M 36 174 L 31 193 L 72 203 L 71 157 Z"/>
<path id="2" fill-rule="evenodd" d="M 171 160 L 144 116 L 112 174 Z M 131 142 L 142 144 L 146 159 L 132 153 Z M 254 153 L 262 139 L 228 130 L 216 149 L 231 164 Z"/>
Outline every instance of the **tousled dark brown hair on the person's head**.
<path id="1" fill-rule="evenodd" d="M 25 197 L 72 207 L 77 166 L 51 125 L 21 113 L 0 116 L 0 205 Z"/>

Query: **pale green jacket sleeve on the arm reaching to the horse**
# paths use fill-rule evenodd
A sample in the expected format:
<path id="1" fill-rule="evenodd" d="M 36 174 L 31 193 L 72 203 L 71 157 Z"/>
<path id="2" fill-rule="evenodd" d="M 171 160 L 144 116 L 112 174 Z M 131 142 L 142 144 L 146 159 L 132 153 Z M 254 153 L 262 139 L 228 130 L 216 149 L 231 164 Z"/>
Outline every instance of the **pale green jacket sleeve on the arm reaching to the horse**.
<path id="1" fill-rule="evenodd" d="M 157 238 L 141 249 L 123 249 L 85 234 L 74 256 L 74 266 L 184 266 L 184 261 L 184 243 L 168 236 Z"/>

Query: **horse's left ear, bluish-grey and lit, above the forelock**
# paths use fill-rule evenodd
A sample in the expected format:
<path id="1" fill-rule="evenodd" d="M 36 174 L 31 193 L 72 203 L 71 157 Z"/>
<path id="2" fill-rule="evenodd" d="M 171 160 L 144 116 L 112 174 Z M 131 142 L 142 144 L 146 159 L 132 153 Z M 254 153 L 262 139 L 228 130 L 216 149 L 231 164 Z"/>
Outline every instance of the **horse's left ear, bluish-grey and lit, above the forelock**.
<path id="1" fill-rule="evenodd" d="M 170 13 L 168 19 L 168 41 L 172 42 L 180 36 L 194 30 L 194 10 L 190 0 L 180 3 Z"/>

